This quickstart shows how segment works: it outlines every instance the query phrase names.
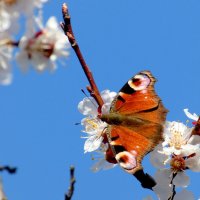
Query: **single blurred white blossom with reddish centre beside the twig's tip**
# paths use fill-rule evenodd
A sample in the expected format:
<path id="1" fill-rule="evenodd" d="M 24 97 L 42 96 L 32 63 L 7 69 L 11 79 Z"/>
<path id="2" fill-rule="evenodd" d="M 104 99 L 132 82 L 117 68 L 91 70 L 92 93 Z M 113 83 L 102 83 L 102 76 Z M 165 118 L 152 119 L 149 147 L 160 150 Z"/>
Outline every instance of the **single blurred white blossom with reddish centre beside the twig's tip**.
<path id="1" fill-rule="evenodd" d="M 61 31 L 55 17 L 51 17 L 42 30 L 31 38 L 24 36 L 20 40 L 21 51 L 17 54 L 17 61 L 23 71 L 32 66 L 38 72 L 56 69 L 58 58 L 69 55 L 69 42 Z"/>

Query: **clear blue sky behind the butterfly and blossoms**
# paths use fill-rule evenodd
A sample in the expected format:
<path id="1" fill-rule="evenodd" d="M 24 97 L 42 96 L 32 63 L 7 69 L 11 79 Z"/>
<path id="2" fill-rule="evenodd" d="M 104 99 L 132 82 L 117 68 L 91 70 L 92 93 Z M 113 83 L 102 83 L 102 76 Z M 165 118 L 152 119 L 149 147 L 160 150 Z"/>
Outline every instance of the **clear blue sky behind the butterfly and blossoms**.
<path id="1" fill-rule="evenodd" d="M 63 1 L 49 1 L 44 19 L 62 20 Z M 69 0 L 72 24 L 86 62 L 100 90 L 118 91 L 141 70 L 157 78 L 156 91 L 168 108 L 167 119 L 185 122 L 183 109 L 200 113 L 200 2 L 198 0 Z M 54 74 L 20 72 L 0 86 L 1 164 L 18 167 L 14 176 L 2 174 L 8 199 L 62 200 L 69 167 L 76 167 L 73 200 L 140 200 L 144 190 L 116 167 L 92 173 L 77 104 L 88 85 L 71 50 Z M 145 171 L 154 174 L 148 157 Z M 189 173 L 195 199 L 200 196 L 197 173 Z"/>

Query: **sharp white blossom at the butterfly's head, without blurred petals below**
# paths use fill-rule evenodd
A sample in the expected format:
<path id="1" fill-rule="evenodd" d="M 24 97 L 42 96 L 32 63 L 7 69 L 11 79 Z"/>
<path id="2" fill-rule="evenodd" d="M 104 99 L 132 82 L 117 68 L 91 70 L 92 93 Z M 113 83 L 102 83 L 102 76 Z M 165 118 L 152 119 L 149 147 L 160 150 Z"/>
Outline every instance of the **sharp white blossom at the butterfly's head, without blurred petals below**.
<path id="1" fill-rule="evenodd" d="M 115 92 L 104 90 L 101 92 L 101 97 L 104 101 L 102 107 L 102 113 L 108 113 L 111 102 L 116 96 Z M 78 110 L 86 117 L 81 121 L 81 124 L 85 127 L 83 132 L 87 133 L 87 138 L 84 144 L 84 151 L 91 152 L 98 149 L 104 139 L 104 130 L 107 127 L 107 123 L 101 121 L 98 118 L 98 105 L 93 97 L 86 97 L 78 104 Z"/>

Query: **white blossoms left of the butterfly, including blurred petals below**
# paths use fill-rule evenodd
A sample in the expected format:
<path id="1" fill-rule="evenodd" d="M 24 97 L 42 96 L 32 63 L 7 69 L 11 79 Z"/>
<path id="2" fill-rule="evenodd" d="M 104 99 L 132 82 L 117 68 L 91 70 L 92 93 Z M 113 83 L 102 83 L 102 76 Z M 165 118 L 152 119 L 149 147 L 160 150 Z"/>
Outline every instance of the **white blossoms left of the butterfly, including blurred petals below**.
<path id="1" fill-rule="evenodd" d="M 110 110 L 111 103 L 116 96 L 116 92 L 110 92 L 104 90 L 101 92 L 101 97 L 104 101 L 101 113 L 107 114 Z M 84 126 L 83 132 L 87 136 L 84 144 L 84 152 L 95 152 L 99 154 L 98 162 L 92 167 L 93 171 L 99 171 L 101 169 L 110 169 L 115 166 L 113 163 L 109 163 L 105 159 L 106 151 L 108 150 L 108 144 L 104 140 L 104 131 L 107 127 L 107 123 L 101 121 L 98 118 L 98 105 L 93 97 L 86 97 L 78 104 L 78 110 L 86 117 L 82 119 L 81 124 Z"/>

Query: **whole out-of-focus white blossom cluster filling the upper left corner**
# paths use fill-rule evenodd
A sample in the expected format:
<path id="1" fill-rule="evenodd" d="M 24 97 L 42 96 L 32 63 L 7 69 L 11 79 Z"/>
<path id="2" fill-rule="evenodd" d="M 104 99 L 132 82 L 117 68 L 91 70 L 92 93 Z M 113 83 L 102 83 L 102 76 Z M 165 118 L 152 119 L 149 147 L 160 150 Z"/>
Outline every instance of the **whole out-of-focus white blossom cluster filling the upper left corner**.
<path id="1" fill-rule="evenodd" d="M 43 25 L 42 7 L 47 0 L 0 1 L 0 84 L 12 82 L 13 58 L 23 72 L 30 67 L 38 72 L 54 71 L 58 58 L 69 55 L 69 42 L 54 16 Z M 20 16 L 26 19 L 24 35 L 18 34 Z M 13 48 L 18 48 L 14 54 Z M 13 56 L 14 54 L 14 56 Z"/>

